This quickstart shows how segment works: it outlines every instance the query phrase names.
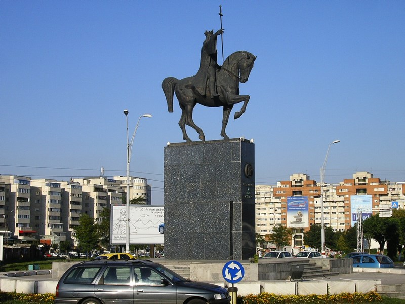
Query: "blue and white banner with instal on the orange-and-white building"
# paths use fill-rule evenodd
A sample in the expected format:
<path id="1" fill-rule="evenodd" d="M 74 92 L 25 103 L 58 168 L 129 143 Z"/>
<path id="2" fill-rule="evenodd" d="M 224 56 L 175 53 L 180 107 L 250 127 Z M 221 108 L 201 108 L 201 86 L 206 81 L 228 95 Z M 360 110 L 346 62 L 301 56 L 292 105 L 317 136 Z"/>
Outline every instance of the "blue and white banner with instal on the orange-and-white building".
<path id="1" fill-rule="evenodd" d="M 294 196 L 287 197 L 287 227 L 308 228 L 309 227 L 308 197 Z"/>

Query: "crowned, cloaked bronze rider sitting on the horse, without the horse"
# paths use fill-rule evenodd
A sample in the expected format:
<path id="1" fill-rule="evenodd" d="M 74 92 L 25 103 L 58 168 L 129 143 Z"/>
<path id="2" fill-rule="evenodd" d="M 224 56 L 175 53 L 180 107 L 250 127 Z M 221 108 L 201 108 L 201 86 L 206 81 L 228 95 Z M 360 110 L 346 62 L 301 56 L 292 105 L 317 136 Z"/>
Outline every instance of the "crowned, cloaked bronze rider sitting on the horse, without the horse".
<path id="1" fill-rule="evenodd" d="M 218 30 L 214 34 L 214 30 L 206 31 L 206 39 L 201 48 L 201 62 L 199 70 L 194 77 L 194 86 L 197 91 L 206 96 L 207 94 L 207 81 L 208 90 L 210 91 L 211 98 L 219 96 L 215 91 L 216 70 L 220 68 L 217 64 L 217 37 L 224 32 L 223 29 Z"/>

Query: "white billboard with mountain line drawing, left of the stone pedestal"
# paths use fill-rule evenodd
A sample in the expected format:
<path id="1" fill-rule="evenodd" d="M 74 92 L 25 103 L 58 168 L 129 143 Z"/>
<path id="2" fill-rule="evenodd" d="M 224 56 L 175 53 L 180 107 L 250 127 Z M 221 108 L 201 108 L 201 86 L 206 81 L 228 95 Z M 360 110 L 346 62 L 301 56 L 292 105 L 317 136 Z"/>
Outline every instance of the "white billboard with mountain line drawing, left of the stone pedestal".
<path id="1" fill-rule="evenodd" d="M 130 205 L 130 244 L 164 244 L 164 207 Z M 110 241 L 112 245 L 125 244 L 127 206 L 112 205 Z"/>

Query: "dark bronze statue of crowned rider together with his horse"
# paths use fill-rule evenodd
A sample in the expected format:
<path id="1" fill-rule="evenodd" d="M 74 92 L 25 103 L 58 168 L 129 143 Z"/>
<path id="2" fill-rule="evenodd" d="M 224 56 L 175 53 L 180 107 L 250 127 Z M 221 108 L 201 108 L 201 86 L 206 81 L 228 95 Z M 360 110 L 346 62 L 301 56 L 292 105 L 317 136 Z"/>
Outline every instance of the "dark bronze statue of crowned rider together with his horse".
<path id="1" fill-rule="evenodd" d="M 205 140 L 203 130 L 194 123 L 192 118 L 193 109 L 197 103 L 209 107 L 223 107 L 221 136 L 229 139 L 225 128 L 233 105 L 244 102 L 240 111 L 234 115 L 234 119 L 237 119 L 245 113 L 250 99 L 249 95 L 239 95 L 239 82 L 248 81 L 256 57 L 249 52 L 238 51 L 229 55 L 222 66 L 218 65 L 217 37 L 223 32 L 223 29 L 216 33 L 213 30 L 205 32 L 200 67 L 195 76 L 180 80 L 167 77 L 162 83 L 170 113 L 173 112 L 174 94 L 179 101 L 182 110 L 179 126 L 183 132 L 183 139 L 187 142 L 191 139 L 187 136 L 186 124 L 199 134 L 200 140 Z"/>

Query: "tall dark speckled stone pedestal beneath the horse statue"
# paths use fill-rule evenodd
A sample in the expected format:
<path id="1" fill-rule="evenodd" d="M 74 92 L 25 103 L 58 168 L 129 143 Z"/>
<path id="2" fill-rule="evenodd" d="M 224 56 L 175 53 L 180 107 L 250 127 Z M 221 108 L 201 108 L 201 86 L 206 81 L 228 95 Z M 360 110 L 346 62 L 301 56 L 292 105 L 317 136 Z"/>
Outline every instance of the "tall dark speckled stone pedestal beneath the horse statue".
<path id="1" fill-rule="evenodd" d="M 165 147 L 166 259 L 253 257 L 254 147 L 243 138 Z"/>

